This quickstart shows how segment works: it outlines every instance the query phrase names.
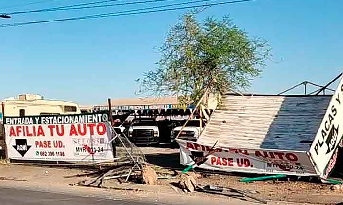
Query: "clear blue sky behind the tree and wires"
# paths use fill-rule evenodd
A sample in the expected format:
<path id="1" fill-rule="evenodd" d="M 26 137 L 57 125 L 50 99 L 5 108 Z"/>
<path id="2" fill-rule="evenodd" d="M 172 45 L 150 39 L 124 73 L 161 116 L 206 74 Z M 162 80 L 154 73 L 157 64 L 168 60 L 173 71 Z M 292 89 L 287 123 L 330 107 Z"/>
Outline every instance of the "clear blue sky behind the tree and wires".
<path id="1" fill-rule="evenodd" d="M 39 0 L 0 0 L 0 13 L 97 0 L 51 0 L 10 7 L 35 1 Z M 164 4 L 177 2 L 181 0 Z M 156 3 L 23 14 L 1 19 L 0 23 L 77 17 L 153 5 Z M 154 48 L 162 44 L 169 27 L 184 12 L 2 27 L 0 99 L 19 93 L 39 93 L 48 99 L 102 104 L 108 97 L 135 97 L 134 79 L 141 77 L 143 71 L 156 68 L 159 54 Z M 257 0 L 212 7 L 198 18 L 221 18 L 226 14 L 249 35 L 269 40 L 273 47 L 273 61 L 253 81 L 249 92 L 275 94 L 304 80 L 323 85 L 343 70 L 342 0 Z M 302 94 L 303 88 L 293 93 Z"/>

